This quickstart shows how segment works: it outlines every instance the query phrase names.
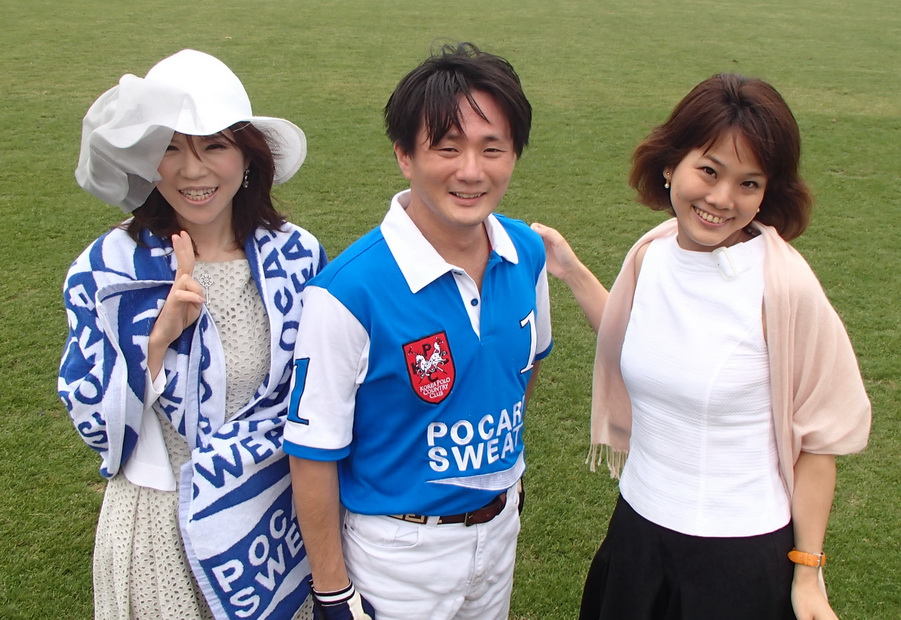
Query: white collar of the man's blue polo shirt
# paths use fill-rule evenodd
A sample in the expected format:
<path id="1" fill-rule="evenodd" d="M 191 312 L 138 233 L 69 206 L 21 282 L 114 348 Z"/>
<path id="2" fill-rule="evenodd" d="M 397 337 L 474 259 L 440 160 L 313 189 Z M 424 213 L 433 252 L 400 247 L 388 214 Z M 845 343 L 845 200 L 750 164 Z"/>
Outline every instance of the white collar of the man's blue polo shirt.
<path id="1" fill-rule="evenodd" d="M 394 260 L 397 261 L 407 285 L 413 293 L 418 293 L 448 271 L 459 267 L 446 262 L 432 247 L 407 215 L 410 204 L 410 190 L 404 190 L 391 199 L 391 208 L 382 220 L 381 231 Z M 498 256 L 511 263 L 518 263 L 519 256 L 510 235 L 494 214 L 485 219 L 485 229 L 491 249 Z"/>

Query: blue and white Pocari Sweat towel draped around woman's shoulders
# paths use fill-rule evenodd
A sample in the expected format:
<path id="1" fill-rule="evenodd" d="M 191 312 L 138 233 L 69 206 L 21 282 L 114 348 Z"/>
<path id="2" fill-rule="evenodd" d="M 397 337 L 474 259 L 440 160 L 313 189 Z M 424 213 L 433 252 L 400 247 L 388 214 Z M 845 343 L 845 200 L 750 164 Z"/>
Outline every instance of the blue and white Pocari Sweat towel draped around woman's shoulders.
<path id="1" fill-rule="evenodd" d="M 64 296 L 69 337 L 58 391 L 85 443 L 116 475 L 135 449 L 146 393 L 147 341 L 175 275 L 168 241 L 135 244 L 120 229 L 73 263 Z M 269 318 L 272 361 L 263 385 L 225 420 L 225 355 L 206 308 L 172 343 L 154 407 L 191 448 L 179 517 L 194 575 L 217 618 L 291 617 L 309 592 L 282 450 L 301 292 L 326 263 L 307 231 L 258 230 L 245 245 Z"/>

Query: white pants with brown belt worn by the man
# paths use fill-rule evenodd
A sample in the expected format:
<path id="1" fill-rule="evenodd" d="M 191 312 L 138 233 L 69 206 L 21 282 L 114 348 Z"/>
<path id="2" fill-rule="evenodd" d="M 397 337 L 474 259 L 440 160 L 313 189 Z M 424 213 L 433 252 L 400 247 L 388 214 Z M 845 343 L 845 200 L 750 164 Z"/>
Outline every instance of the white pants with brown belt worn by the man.
<path id="1" fill-rule="evenodd" d="M 344 559 L 378 620 L 506 620 L 519 493 L 488 523 L 437 525 L 348 512 Z"/>

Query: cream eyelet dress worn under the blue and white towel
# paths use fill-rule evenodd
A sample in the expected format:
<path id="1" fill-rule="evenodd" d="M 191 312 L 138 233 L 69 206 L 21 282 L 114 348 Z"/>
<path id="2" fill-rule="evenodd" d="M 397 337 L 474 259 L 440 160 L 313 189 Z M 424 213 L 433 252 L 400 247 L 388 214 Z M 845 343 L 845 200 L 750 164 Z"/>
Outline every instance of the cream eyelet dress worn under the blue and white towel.
<path id="1" fill-rule="evenodd" d="M 269 322 L 246 259 L 197 263 L 206 306 L 222 339 L 226 366 L 226 414 L 254 395 L 269 369 Z M 157 413 L 179 470 L 188 443 Z M 296 618 L 312 618 L 309 600 Z M 139 487 L 119 474 L 109 481 L 94 543 L 94 617 L 207 619 L 209 607 L 191 574 L 178 527 L 178 490 Z"/>

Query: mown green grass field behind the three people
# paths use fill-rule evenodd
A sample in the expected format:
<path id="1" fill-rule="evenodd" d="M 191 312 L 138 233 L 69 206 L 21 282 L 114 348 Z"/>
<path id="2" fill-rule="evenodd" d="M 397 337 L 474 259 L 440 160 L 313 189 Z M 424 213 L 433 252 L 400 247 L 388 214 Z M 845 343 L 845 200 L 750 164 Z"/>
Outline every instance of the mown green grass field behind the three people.
<path id="1" fill-rule="evenodd" d="M 0 1 L 0 618 L 87 618 L 103 485 L 56 398 L 71 260 L 121 214 L 75 184 L 80 121 L 124 73 L 192 47 L 242 78 L 258 114 L 307 133 L 278 190 L 330 256 L 403 187 L 381 108 L 435 39 L 509 58 L 535 110 L 501 210 L 561 229 L 611 282 L 662 216 L 637 206 L 629 156 L 694 84 L 771 81 L 817 195 L 795 245 L 844 318 L 874 406 L 869 449 L 840 459 L 827 582 L 843 619 L 901 617 L 899 278 L 901 15 L 894 0 Z M 575 617 L 616 486 L 585 465 L 593 334 L 559 282 L 556 346 L 529 411 L 516 618 Z"/>

